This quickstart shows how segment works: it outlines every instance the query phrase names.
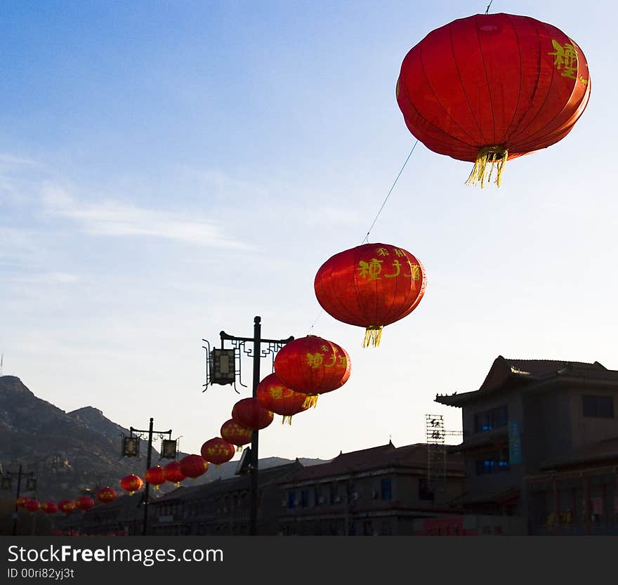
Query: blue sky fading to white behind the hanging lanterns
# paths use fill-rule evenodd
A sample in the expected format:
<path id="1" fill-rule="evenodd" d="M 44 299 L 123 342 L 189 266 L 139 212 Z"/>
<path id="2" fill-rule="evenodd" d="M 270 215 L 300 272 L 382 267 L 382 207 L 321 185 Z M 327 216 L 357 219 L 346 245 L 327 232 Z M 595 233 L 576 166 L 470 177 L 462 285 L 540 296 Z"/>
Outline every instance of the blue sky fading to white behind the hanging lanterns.
<path id="1" fill-rule="evenodd" d="M 379 348 L 320 310 L 315 272 L 362 242 L 409 151 L 407 51 L 487 2 L 5 1 L 0 8 L 0 351 L 4 374 L 70 411 L 181 436 L 199 452 L 237 395 L 202 393 L 202 338 L 320 335 L 350 380 L 261 433 L 261 456 L 424 440 L 436 393 L 497 355 L 615 353 L 617 9 L 500 1 L 584 51 L 591 100 L 501 188 L 419 144 L 369 241 L 425 265 L 426 296 Z M 251 363 L 243 364 L 245 383 Z M 263 360 L 262 377 L 272 371 Z"/>

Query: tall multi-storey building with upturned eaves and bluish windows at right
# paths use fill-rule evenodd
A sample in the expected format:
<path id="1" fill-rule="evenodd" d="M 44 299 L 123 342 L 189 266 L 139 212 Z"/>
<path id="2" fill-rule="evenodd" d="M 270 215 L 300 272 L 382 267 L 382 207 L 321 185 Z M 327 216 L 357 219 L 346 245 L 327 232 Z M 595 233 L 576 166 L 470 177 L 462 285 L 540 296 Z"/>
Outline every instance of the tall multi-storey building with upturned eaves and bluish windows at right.
<path id="1" fill-rule="evenodd" d="M 506 360 L 462 411 L 468 513 L 525 519 L 522 534 L 618 534 L 618 372 L 595 362 Z"/>

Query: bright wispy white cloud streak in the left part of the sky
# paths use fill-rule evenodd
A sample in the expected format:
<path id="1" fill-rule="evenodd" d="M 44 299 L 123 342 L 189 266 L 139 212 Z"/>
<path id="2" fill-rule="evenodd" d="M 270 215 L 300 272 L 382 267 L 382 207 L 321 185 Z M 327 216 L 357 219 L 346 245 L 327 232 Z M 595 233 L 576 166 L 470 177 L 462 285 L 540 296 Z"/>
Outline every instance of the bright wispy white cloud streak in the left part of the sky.
<path id="1" fill-rule="evenodd" d="M 46 213 L 71 219 L 91 235 L 162 237 L 199 246 L 249 248 L 244 242 L 226 235 L 215 223 L 112 199 L 81 203 L 58 185 L 45 185 L 41 191 L 41 201 Z"/>

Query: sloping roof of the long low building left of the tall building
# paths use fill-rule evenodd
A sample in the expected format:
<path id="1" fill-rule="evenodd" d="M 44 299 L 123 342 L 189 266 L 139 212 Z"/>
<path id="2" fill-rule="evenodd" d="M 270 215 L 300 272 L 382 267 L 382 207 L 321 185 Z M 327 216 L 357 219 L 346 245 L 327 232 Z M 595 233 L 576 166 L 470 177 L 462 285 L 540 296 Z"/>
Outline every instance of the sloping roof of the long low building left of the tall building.
<path id="1" fill-rule="evenodd" d="M 416 443 L 397 448 L 392 442 L 388 442 L 387 445 L 380 445 L 379 447 L 340 453 L 328 463 L 303 468 L 287 478 L 286 482 L 298 483 L 319 480 L 363 471 L 377 471 L 386 467 L 426 468 L 427 445 Z M 455 471 L 463 470 L 461 459 L 458 456 L 449 456 L 447 468 Z"/>

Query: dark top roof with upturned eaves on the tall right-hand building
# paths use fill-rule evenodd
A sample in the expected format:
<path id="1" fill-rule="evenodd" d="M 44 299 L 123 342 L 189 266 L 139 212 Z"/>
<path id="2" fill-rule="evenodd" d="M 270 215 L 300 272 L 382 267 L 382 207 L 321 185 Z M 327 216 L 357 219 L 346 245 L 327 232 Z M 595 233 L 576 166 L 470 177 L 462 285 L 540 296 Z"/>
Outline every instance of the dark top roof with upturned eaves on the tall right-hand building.
<path id="1" fill-rule="evenodd" d="M 599 362 L 589 364 L 559 360 L 519 360 L 499 355 L 478 390 L 436 395 L 435 402 L 461 407 L 501 391 L 513 388 L 536 390 L 560 381 L 610 383 L 618 388 L 618 371 L 607 369 Z"/>

